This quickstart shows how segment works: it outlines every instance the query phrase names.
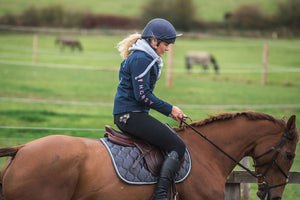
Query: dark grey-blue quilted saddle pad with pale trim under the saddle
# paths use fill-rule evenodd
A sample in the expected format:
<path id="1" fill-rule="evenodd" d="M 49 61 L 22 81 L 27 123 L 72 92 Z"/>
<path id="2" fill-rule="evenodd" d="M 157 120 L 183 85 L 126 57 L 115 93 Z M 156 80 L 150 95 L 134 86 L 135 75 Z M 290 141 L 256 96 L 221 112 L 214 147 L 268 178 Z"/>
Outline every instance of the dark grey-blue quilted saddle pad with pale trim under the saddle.
<path id="1" fill-rule="evenodd" d="M 110 142 L 107 138 L 100 140 L 106 147 L 120 179 L 126 183 L 137 185 L 157 183 L 158 177 L 151 174 L 144 159 L 135 168 L 132 167 L 141 154 L 138 148 L 120 146 Z M 191 168 L 192 159 L 188 149 L 186 149 L 184 162 L 175 175 L 175 183 L 184 181 L 190 174 Z"/>

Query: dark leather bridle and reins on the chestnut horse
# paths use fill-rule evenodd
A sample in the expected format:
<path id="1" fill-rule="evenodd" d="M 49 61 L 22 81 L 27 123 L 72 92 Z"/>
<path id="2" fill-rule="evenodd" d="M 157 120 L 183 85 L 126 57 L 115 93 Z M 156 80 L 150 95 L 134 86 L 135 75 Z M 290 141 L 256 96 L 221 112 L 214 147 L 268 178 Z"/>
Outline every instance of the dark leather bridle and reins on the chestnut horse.
<path id="1" fill-rule="evenodd" d="M 191 120 L 191 118 L 187 117 L 188 119 Z M 192 120 L 191 120 L 192 121 Z M 231 157 L 228 153 L 226 153 L 223 149 L 221 149 L 219 146 L 217 146 L 214 142 L 212 142 L 210 139 L 208 139 L 205 135 L 203 135 L 201 132 L 199 132 L 197 129 L 195 129 L 194 127 L 192 127 L 190 124 L 188 124 L 187 122 L 185 122 L 183 120 L 183 118 L 181 119 L 181 123 L 180 126 L 182 126 L 182 124 L 185 124 L 186 126 L 188 126 L 189 128 L 191 128 L 193 131 L 195 131 L 196 133 L 198 133 L 201 137 L 203 137 L 206 141 L 208 141 L 210 144 L 212 144 L 214 147 L 216 147 L 219 151 L 221 151 L 223 154 L 225 154 L 228 158 L 230 158 L 232 161 L 234 161 L 237 165 L 239 165 L 240 167 L 242 167 L 243 169 L 245 169 L 249 174 L 251 174 L 252 176 L 254 176 L 255 178 L 259 180 L 262 180 L 261 182 L 258 183 L 259 187 L 259 191 L 262 191 L 264 193 L 268 193 L 271 189 L 273 188 L 277 188 L 277 187 L 281 187 L 284 186 L 288 183 L 288 178 L 289 176 L 283 171 L 282 167 L 280 167 L 280 165 L 277 163 L 277 157 L 281 151 L 281 148 L 283 147 L 283 145 L 286 142 L 286 139 L 289 140 L 293 140 L 293 137 L 289 136 L 287 134 L 287 129 L 285 129 L 284 134 L 282 135 L 282 138 L 280 140 L 280 142 L 278 144 L 276 144 L 275 146 L 273 146 L 271 149 L 269 149 L 268 151 L 266 151 L 265 153 L 254 157 L 254 161 L 258 160 L 259 158 L 264 157 L 265 155 L 271 153 L 272 151 L 276 150 L 276 153 L 274 154 L 272 160 L 270 162 L 266 162 L 263 164 L 259 164 L 259 165 L 253 165 L 253 167 L 262 167 L 262 166 L 267 166 L 267 168 L 265 169 L 265 171 L 262 174 L 255 174 L 253 173 L 249 168 L 245 167 L 244 165 L 242 165 L 239 161 L 237 161 L 236 159 L 234 159 L 233 157 Z M 266 174 L 268 173 L 269 169 L 272 167 L 272 165 L 275 165 L 279 171 L 281 172 L 281 174 L 286 178 L 286 181 L 284 183 L 278 184 L 278 185 L 272 185 L 270 186 L 268 184 L 268 182 L 266 181 Z"/>

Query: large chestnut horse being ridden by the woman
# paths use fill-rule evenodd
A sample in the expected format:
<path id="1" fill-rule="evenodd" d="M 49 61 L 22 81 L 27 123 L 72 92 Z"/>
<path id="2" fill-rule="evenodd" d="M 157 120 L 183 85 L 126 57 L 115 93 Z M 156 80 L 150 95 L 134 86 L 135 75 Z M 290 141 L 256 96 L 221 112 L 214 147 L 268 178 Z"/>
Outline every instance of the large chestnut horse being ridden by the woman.
<path id="1" fill-rule="evenodd" d="M 294 115 L 287 121 L 257 112 L 224 113 L 190 125 L 176 128 L 193 161 L 190 175 L 177 184 L 180 200 L 224 199 L 236 165 L 194 130 L 235 160 L 251 156 L 258 196 L 281 199 L 299 140 Z M 1 171 L 6 200 L 150 200 L 154 191 L 154 185 L 121 181 L 97 139 L 53 135 L 2 148 L 0 156 L 11 156 Z"/>

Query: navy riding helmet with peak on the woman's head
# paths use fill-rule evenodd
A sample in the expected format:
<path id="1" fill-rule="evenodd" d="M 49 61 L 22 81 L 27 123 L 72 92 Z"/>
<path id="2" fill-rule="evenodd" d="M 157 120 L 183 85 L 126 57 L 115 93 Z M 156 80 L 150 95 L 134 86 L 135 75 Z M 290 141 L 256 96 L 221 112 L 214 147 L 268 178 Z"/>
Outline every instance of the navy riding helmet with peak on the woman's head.
<path id="1" fill-rule="evenodd" d="M 182 34 L 176 35 L 174 26 L 165 19 L 156 18 L 152 19 L 143 30 L 142 38 L 156 38 L 158 40 L 174 43 L 177 37 L 182 36 Z"/>

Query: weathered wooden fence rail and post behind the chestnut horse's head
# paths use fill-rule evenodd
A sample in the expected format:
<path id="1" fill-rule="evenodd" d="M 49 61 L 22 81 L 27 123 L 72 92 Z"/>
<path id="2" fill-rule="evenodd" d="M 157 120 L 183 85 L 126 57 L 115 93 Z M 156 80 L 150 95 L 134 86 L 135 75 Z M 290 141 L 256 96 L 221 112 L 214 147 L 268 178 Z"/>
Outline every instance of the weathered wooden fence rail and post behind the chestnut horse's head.
<path id="1" fill-rule="evenodd" d="M 256 178 L 243 170 L 233 171 L 227 178 L 225 200 L 241 200 L 241 183 L 256 183 Z M 289 173 L 289 184 L 300 184 L 300 171 Z"/>

